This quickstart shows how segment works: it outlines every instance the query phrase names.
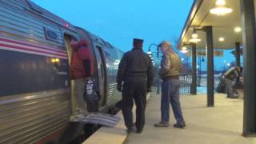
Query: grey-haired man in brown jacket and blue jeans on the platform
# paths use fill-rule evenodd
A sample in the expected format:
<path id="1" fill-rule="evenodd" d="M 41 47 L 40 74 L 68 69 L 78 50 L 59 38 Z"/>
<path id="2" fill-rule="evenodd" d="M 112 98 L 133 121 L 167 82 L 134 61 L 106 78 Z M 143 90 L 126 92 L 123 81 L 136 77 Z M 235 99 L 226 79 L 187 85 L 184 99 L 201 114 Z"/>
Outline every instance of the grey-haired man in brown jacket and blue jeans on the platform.
<path id="1" fill-rule="evenodd" d="M 182 109 L 179 102 L 179 88 L 181 82 L 179 75 L 182 71 L 182 62 L 172 49 L 170 42 L 160 44 L 163 53 L 160 76 L 162 78 L 162 98 L 161 98 L 161 122 L 154 124 L 156 127 L 168 127 L 170 120 L 170 104 L 174 110 L 177 123 L 174 127 L 183 128 L 186 126 L 182 116 Z"/>

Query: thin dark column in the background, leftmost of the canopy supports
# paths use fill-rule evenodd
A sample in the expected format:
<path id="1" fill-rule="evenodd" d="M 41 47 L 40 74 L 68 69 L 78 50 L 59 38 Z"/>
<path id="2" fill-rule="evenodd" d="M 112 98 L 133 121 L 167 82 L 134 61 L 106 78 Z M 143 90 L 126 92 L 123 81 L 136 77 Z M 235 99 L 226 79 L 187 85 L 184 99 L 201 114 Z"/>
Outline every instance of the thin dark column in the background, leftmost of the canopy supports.
<path id="1" fill-rule="evenodd" d="M 195 43 L 192 46 L 192 82 L 190 87 L 190 94 L 197 94 L 197 46 Z"/>

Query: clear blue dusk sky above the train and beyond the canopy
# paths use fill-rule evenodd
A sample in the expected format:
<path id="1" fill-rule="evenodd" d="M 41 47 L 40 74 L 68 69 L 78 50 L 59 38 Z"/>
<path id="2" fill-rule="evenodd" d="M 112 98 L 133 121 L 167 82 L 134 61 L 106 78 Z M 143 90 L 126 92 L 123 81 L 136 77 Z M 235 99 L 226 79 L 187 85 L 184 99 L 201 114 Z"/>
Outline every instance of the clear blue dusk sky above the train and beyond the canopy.
<path id="1" fill-rule="evenodd" d="M 178 40 L 194 0 L 33 0 L 39 6 L 100 36 L 120 50 L 128 51 L 133 38 L 145 40 L 144 50 L 150 43 Z M 234 61 L 230 50 L 226 58 L 215 58 L 215 63 Z M 206 62 L 202 63 L 206 70 Z M 222 69 L 223 65 L 215 65 Z"/>

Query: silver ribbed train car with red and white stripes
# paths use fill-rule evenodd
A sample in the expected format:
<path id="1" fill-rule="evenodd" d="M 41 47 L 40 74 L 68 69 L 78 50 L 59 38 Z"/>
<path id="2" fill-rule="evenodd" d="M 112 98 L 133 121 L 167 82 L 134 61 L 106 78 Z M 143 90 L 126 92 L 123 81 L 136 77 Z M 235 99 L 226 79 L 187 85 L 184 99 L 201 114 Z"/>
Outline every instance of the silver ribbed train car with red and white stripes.
<path id="1" fill-rule="evenodd" d="M 67 143 L 83 133 L 70 122 L 70 36 L 90 42 L 94 78 L 108 112 L 122 51 L 29 0 L 0 0 L 0 143 Z"/>

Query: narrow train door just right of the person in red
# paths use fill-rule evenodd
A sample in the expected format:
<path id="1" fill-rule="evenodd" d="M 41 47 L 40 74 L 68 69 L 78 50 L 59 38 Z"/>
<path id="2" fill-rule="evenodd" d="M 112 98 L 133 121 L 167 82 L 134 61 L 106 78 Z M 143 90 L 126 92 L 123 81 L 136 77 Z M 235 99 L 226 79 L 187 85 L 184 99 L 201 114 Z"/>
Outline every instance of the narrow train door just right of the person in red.
<path id="1" fill-rule="evenodd" d="M 96 46 L 96 53 L 98 55 L 98 84 L 100 89 L 101 99 L 99 106 L 104 106 L 106 103 L 106 56 L 102 50 L 102 47 Z M 101 108 L 101 107 L 99 107 Z"/>

